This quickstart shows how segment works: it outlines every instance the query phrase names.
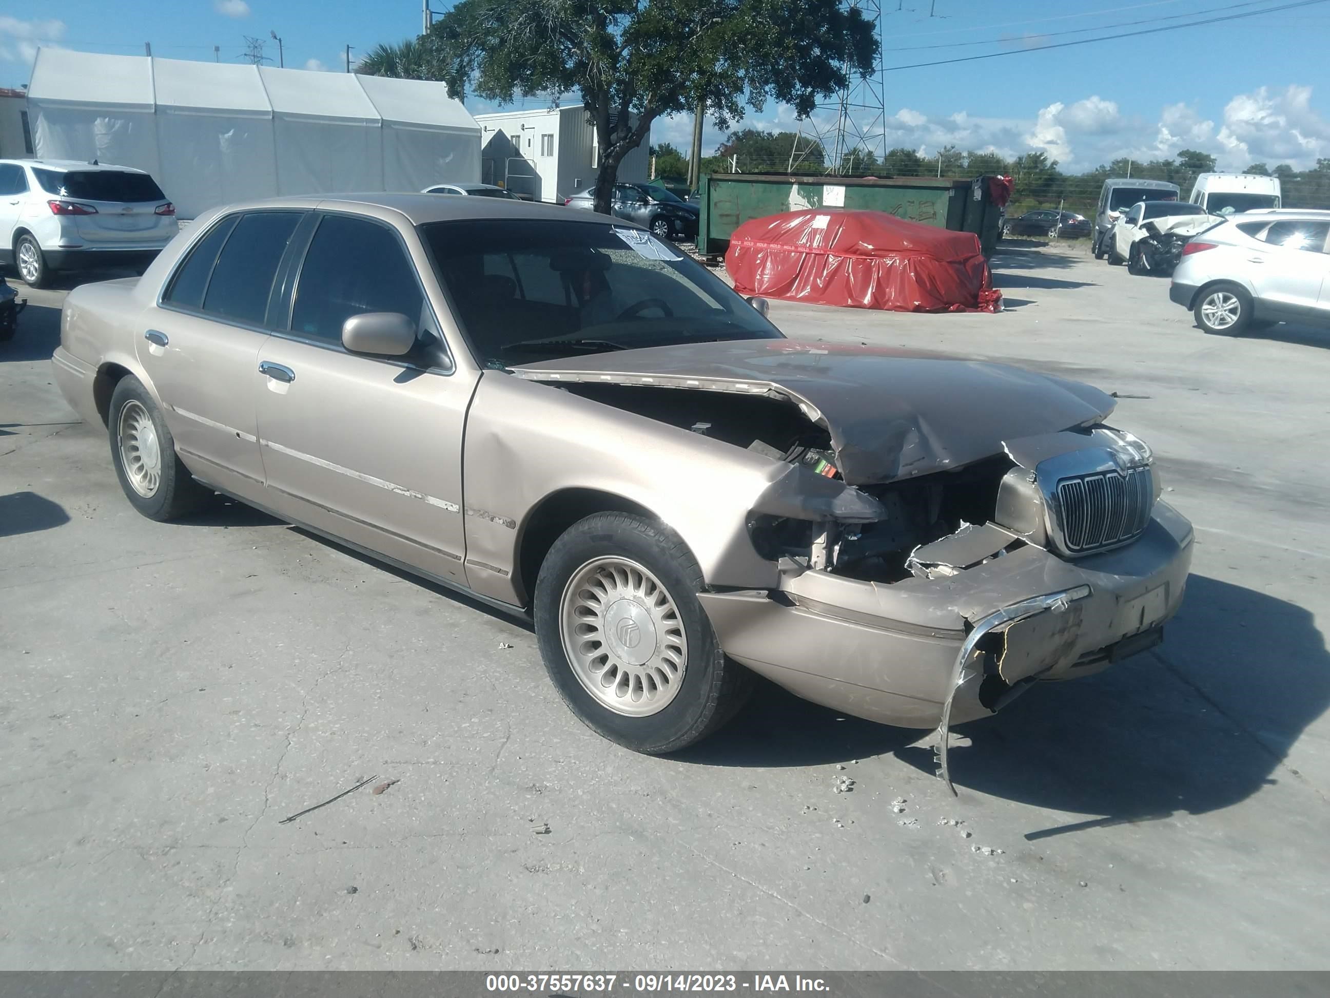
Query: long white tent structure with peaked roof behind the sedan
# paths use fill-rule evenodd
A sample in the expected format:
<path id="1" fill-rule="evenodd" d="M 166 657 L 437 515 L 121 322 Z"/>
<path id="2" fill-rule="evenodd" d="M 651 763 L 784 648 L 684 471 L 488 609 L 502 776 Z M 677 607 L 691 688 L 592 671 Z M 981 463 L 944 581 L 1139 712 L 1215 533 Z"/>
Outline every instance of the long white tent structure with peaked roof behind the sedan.
<path id="1" fill-rule="evenodd" d="M 480 180 L 480 126 L 442 83 L 43 48 L 28 114 L 39 158 L 148 170 L 184 218 Z"/>

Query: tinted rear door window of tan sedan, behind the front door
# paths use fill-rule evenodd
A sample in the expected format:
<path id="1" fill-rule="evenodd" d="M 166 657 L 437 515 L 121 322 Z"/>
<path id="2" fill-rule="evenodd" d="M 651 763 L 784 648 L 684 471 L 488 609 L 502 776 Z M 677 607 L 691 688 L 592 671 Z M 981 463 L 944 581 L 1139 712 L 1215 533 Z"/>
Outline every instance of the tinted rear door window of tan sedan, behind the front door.
<path id="1" fill-rule="evenodd" d="M 259 325 L 267 313 L 277 265 L 301 221 L 301 212 L 242 216 L 213 267 L 203 311 Z"/>

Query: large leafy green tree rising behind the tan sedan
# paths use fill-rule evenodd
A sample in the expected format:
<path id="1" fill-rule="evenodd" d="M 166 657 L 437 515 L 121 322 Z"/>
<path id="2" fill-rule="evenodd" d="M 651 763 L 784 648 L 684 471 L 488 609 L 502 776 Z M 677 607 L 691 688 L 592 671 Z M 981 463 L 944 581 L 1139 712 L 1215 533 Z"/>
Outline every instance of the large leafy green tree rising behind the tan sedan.
<path id="1" fill-rule="evenodd" d="M 717 128 L 774 97 L 806 117 L 872 69 L 875 27 L 838 0 L 462 0 L 430 29 L 456 97 L 581 96 L 596 129 L 596 210 L 662 114 L 700 105 Z"/>

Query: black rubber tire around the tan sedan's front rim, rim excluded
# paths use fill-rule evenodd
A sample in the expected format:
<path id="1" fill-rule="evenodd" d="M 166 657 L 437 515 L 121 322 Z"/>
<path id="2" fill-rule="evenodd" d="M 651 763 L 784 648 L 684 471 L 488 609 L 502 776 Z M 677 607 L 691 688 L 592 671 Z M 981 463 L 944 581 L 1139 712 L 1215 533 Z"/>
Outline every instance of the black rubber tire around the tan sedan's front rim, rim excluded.
<path id="1" fill-rule="evenodd" d="M 625 716 L 602 704 L 577 679 L 564 648 L 560 619 L 565 589 L 597 559 L 626 559 L 646 568 L 677 609 L 686 660 L 677 692 L 656 713 Z M 701 741 L 734 716 L 751 692 L 753 675 L 721 651 L 697 599 L 704 585 L 702 570 L 688 546 L 657 520 L 595 514 L 555 542 L 536 580 L 536 637 L 549 679 L 583 724 L 624 748 L 660 754 Z"/>

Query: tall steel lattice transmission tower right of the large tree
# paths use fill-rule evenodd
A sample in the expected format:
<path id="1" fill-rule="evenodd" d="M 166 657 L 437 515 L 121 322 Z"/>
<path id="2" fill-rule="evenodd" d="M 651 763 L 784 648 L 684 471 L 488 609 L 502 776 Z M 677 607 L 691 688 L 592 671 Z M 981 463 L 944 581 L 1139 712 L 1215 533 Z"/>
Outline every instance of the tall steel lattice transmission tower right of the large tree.
<path id="1" fill-rule="evenodd" d="M 878 33 L 878 56 L 864 73 L 851 67 L 849 55 L 842 64 L 847 83 L 829 104 L 819 104 L 814 116 L 799 122 L 790 150 L 793 170 L 819 148 L 827 173 L 851 173 L 861 150 L 872 153 L 878 162 L 887 156 L 886 93 L 882 72 L 882 3 L 880 0 L 845 0 L 845 7 L 863 13 Z M 830 112 L 830 118 L 829 118 Z"/>

